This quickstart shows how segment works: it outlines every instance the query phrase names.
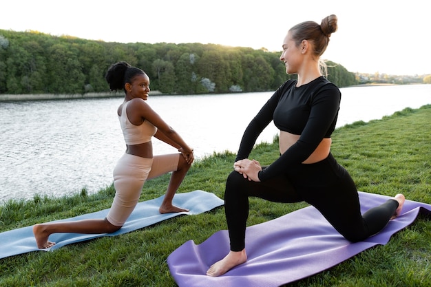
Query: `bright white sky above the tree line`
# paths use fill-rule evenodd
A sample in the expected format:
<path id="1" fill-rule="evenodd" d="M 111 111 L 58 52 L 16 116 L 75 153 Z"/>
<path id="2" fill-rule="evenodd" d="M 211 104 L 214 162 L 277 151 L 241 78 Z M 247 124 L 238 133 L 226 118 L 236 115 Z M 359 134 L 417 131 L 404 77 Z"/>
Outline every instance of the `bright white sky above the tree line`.
<path id="1" fill-rule="evenodd" d="M 324 59 L 350 72 L 431 74 L 431 13 L 423 0 L 5 0 L 0 29 L 281 51 L 289 28 L 302 21 L 320 23 L 329 14 L 337 15 L 339 29 Z"/>

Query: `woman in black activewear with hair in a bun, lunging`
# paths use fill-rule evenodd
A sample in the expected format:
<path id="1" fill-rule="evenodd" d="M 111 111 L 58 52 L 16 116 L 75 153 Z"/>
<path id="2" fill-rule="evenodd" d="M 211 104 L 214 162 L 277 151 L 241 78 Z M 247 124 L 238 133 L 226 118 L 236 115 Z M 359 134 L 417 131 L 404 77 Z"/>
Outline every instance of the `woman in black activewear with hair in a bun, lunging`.
<path id="1" fill-rule="evenodd" d="M 401 213 L 405 198 L 397 194 L 361 215 L 355 184 L 330 153 L 341 93 L 322 76 L 320 56 L 336 30 L 337 17 L 330 15 L 320 25 L 299 23 L 284 38 L 280 60 L 287 74 L 297 74 L 297 80 L 279 87 L 244 132 L 224 193 L 230 252 L 207 275 L 220 276 L 246 262 L 250 196 L 273 202 L 308 202 L 351 242 L 378 233 Z M 280 129 L 280 158 L 262 167 L 248 156 L 271 120 Z"/>

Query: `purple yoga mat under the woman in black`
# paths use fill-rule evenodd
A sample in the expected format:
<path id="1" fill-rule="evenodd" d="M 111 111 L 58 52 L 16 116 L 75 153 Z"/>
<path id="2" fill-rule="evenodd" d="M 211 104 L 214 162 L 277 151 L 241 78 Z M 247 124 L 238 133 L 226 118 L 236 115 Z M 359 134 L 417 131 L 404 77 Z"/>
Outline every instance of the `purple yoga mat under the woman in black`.
<path id="1" fill-rule="evenodd" d="M 388 200 L 388 196 L 359 192 L 361 211 Z M 431 215 L 431 205 L 406 200 L 401 216 L 363 242 L 351 243 L 339 235 L 313 206 L 246 229 L 246 263 L 220 277 L 205 273 L 229 252 L 227 231 L 218 231 L 202 244 L 189 240 L 167 258 L 180 287 L 276 287 L 333 267 L 390 237 L 411 224 L 419 211 Z"/>

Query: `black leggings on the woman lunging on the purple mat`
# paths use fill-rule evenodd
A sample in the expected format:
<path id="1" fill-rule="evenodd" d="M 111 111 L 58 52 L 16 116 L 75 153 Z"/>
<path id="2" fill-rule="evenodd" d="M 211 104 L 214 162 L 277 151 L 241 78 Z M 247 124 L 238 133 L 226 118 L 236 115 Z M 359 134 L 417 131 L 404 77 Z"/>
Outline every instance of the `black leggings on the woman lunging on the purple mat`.
<path id="1" fill-rule="evenodd" d="M 351 242 L 381 231 L 398 208 L 397 200 L 390 199 L 361 215 L 355 183 L 331 154 L 321 162 L 300 164 L 292 173 L 264 182 L 249 181 L 232 171 L 224 193 L 231 251 L 245 247 L 249 196 L 272 202 L 308 202 Z"/>

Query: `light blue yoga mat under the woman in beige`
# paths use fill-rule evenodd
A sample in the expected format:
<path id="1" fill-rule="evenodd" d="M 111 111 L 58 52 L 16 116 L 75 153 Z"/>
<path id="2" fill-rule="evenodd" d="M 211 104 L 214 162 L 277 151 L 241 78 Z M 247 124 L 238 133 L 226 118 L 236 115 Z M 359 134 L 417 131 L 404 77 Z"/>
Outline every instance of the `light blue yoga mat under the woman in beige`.
<path id="1" fill-rule="evenodd" d="M 56 248 L 60 248 L 61 246 L 65 246 L 67 244 L 91 240 L 96 237 L 115 236 L 130 231 L 135 231 L 139 228 L 150 226 L 152 224 L 156 224 L 157 222 L 161 222 L 162 220 L 167 220 L 178 215 L 195 215 L 203 213 L 224 204 L 223 200 L 218 198 L 213 193 L 209 193 L 207 191 L 197 190 L 191 191 L 189 193 L 177 193 L 174 196 L 173 204 L 189 209 L 190 211 L 160 214 L 158 212 L 158 208 L 162 203 L 163 197 L 164 196 L 160 196 L 160 198 L 156 198 L 154 200 L 139 202 L 127 222 L 125 222 L 124 226 L 114 233 L 54 233 L 50 235 L 50 241 L 56 242 L 56 244 L 51 248 L 37 248 L 36 240 L 34 239 L 33 235 L 33 226 L 18 228 L 12 231 L 5 231 L 0 233 L 0 258 L 28 253 L 31 251 L 53 251 Z M 108 211 L 109 209 L 105 209 L 103 211 L 79 215 L 76 217 L 67 218 L 65 220 L 56 220 L 56 222 L 105 218 Z"/>

